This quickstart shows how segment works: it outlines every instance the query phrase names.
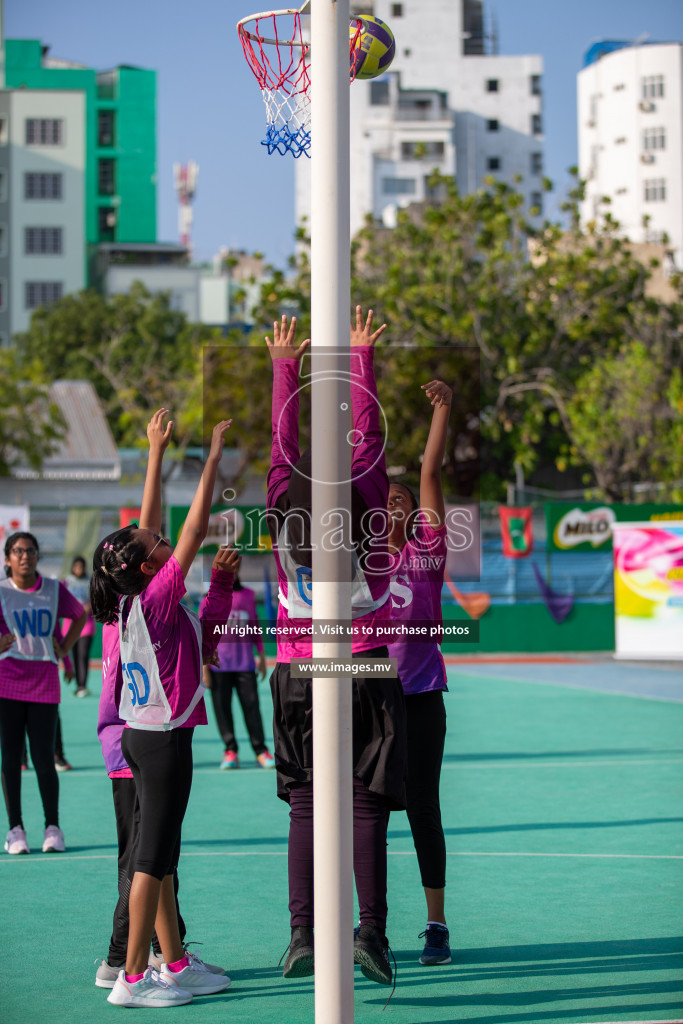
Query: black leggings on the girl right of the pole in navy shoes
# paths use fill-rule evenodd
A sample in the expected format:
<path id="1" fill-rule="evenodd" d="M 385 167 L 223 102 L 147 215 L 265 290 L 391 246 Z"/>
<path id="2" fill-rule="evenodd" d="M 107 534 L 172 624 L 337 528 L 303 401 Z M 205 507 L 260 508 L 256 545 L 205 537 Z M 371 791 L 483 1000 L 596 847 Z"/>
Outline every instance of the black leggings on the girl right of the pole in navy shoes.
<path id="1" fill-rule="evenodd" d="M 422 885 L 445 886 L 445 839 L 438 787 L 445 742 L 443 692 L 430 690 L 405 697 L 408 719 L 408 820 L 418 855 Z"/>

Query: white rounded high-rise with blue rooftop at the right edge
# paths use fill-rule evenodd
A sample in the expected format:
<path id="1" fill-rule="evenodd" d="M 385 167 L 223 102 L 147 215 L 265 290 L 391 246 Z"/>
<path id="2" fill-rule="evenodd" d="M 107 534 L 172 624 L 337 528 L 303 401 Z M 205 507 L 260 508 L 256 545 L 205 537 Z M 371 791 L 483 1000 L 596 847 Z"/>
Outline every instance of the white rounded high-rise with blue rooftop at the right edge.
<path id="1" fill-rule="evenodd" d="M 632 242 L 666 242 L 683 267 L 683 45 L 603 41 L 579 73 L 582 221 L 603 197 Z M 602 207 L 604 209 L 604 207 Z"/>

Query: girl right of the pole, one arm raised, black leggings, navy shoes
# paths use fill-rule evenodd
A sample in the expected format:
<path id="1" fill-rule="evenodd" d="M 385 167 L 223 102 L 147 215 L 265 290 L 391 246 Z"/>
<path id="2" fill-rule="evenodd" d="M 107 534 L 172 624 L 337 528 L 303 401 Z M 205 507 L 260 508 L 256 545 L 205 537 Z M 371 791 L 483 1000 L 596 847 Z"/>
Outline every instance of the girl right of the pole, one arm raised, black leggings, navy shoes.
<path id="1" fill-rule="evenodd" d="M 420 501 L 410 487 L 389 487 L 389 551 L 393 555 L 391 614 L 394 622 L 441 623 L 445 569 L 445 507 L 441 463 L 451 414 L 452 390 L 442 381 L 422 389 L 434 408 L 420 471 Z M 408 640 L 389 644 L 397 659 L 408 721 L 408 818 L 427 900 L 425 947 L 420 963 L 451 963 L 445 923 L 445 840 L 441 825 L 439 779 L 445 741 L 443 690 L 445 666 L 438 642 Z"/>

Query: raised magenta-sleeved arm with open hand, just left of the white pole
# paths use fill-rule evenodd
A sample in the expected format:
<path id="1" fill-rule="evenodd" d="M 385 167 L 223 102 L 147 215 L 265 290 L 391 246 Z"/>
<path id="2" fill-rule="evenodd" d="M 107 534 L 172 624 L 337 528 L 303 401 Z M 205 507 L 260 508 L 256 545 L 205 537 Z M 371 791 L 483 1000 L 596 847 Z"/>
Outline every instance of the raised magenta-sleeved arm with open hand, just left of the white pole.
<path id="1" fill-rule="evenodd" d="M 272 442 L 268 470 L 267 505 L 272 508 L 287 483 L 292 467 L 299 461 L 299 360 L 310 339 L 295 346 L 296 316 L 272 325 L 272 341 L 266 344 L 272 358 Z"/>

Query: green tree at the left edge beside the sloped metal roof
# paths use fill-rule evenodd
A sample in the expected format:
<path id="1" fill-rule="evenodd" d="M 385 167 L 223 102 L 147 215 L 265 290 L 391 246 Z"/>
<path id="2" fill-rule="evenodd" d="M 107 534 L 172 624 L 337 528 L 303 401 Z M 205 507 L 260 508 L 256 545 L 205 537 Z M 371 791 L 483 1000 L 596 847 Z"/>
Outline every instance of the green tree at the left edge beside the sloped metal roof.
<path id="1" fill-rule="evenodd" d="M 0 476 L 17 466 L 40 470 L 65 427 L 39 365 L 19 362 L 12 348 L 0 349 Z"/>

